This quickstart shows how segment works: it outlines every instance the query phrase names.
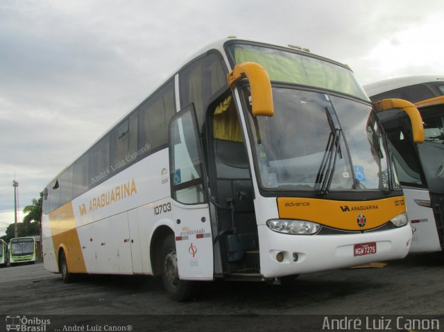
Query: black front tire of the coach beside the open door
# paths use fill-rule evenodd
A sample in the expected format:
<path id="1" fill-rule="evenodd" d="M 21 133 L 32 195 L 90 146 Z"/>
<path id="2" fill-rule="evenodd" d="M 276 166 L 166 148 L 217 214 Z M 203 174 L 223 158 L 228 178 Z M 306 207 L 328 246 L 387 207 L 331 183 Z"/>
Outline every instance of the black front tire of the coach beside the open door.
<path id="1" fill-rule="evenodd" d="M 167 236 L 162 246 L 162 281 L 169 297 L 174 301 L 184 302 L 191 299 L 194 283 L 179 279 L 174 234 Z"/>

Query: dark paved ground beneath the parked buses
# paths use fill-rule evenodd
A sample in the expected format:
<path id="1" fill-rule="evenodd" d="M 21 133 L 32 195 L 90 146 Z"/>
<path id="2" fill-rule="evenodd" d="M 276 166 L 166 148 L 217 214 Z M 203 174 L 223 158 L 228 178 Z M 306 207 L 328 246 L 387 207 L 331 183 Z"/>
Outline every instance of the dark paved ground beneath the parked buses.
<path id="1" fill-rule="evenodd" d="M 310 316 L 317 326 L 311 326 L 313 330 L 299 331 L 321 331 L 325 315 L 338 315 L 337 319 L 359 315 L 353 317 L 361 320 L 375 315 L 377 323 L 390 317 L 392 329 L 384 331 L 407 331 L 395 326 L 397 317 L 433 315 L 441 319 L 440 327 L 444 331 L 444 253 L 411 255 L 387 263 L 384 268 L 305 274 L 291 286 L 223 281 L 202 283 L 196 299 L 187 303 L 172 302 L 164 293 L 160 280 L 153 277 L 87 276 L 76 283 L 65 284 L 58 274 L 46 272 L 41 263 L 20 265 L 0 269 L 3 302 L 0 315 L 26 315 L 28 318 L 71 315 L 51 316 L 53 322 L 63 323 L 65 327 L 69 327 L 67 324 L 73 320 L 93 322 L 100 318 L 100 324 L 103 324 L 103 320 L 109 321 L 113 317 L 115 322 L 129 320 L 133 327 L 142 324 L 146 329 L 148 326 L 143 322 L 149 317 L 150 329 L 164 331 L 185 331 L 179 329 L 178 317 L 180 324 L 191 326 L 206 317 L 210 320 L 208 323 L 213 324 L 213 330 L 221 328 L 217 322 L 224 317 L 225 324 L 232 329 L 220 331 L 237 331 L 237 327 L 251 317 L 254 322 L 246 324 L 248 328 L 243 331 L 258 331 L 253 329 L 255 324 L 265 329 L 265 326 L 282 322 L 281 331 L 298 331 L 292 322 L 298 326 L 310 325 L 306 315 L 318 315 Z M 431 319 L 431 316 L 425 318 Z M 98 328 L 102 326 L 99 325 Z M 2 329 L 0 321 L 0 331 Z"/>

